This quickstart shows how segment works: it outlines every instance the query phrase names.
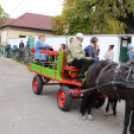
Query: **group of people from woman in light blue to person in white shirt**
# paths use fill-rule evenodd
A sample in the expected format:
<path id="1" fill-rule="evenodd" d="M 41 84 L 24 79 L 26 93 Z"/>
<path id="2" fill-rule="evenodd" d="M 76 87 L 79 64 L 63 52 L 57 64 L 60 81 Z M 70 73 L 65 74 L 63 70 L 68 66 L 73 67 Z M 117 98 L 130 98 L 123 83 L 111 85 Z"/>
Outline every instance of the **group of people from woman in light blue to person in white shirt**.
<path id="1" fill-rule="evenodd" d="M 100 53 L 100 46 L 98 45 L 98 38 L 93 37 L 90 40 L 90 45 L 88 45 L 84 51 L 82 49 L 82 42 L 84 39 L 84 35 L 82 33 L 76 34 L 76 39 L 70 38 L 69 42 L 70 45 L 66 48 L 65 44 L 61 44 L 59 51 L 66 51 L 67 52 L 67 62 L 71 63 L 72 66 L 76 68 L 82 68 L 81 73 L 78 77 L 83 77 L 84 72 L 88 70 L 89 66 L 97 61 L 99 61 L 99 53 Z M 53 51 L 52 46 L 49 46 L 44 43 L 45 42 L 45 35 L 40 34 L 38 37 L 38 41 L 35 45 L 35 59 L 38 61 L 46 62 L 48 60 L 47 54 L 40 54 L 40 50 L 50 50 Z M 104 55 L 104 58 L 108 61 L 113 61 L 114 52 L 113 52 L 114 45 L 110 45 L 108 47 L 108 51 Z"/>

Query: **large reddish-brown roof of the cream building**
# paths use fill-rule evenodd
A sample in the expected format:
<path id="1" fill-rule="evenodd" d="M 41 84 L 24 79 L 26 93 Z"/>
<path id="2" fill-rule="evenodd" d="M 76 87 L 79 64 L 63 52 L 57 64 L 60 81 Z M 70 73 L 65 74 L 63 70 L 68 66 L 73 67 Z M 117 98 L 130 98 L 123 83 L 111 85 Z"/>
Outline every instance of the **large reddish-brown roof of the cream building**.
<path id="1" fill-rule="evenodd" d="M 25 13 L 19 18 L 11 20 L 6 25 L 52 31 L 51 16 L 34 13 Z M 3 25 L 2 27 L 5 27 L 6 25 Z"/>

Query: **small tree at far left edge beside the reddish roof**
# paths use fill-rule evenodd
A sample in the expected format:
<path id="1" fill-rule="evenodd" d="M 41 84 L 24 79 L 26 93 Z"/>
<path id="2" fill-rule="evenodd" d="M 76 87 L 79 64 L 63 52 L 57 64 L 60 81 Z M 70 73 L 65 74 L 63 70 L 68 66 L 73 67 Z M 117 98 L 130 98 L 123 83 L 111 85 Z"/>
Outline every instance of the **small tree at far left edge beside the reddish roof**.
<path id="1" fill-rule="evenodd" d="M 9 15 L 4 11 L 2 6 L 0 5 L 0 26 L 9 21 Z"/>

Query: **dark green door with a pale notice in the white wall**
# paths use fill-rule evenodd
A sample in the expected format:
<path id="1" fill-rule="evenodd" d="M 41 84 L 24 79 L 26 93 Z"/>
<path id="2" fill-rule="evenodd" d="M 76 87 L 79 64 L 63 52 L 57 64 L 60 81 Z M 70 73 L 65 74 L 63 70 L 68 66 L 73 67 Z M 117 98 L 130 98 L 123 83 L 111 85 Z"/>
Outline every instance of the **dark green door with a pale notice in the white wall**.
<path id="1" fill-rule="evenodd" d="M 121 37 L 121 45 L 120 45 L 120 58 L 119 61 L 121 63 L 126 63 L 128 60 L 127 57 L 127 46 L 130 44 L 132 41 L 132 37 L 128 37 L 127 39 Z"/>

